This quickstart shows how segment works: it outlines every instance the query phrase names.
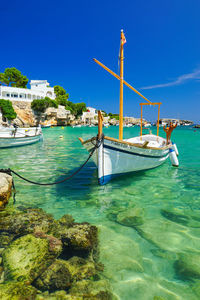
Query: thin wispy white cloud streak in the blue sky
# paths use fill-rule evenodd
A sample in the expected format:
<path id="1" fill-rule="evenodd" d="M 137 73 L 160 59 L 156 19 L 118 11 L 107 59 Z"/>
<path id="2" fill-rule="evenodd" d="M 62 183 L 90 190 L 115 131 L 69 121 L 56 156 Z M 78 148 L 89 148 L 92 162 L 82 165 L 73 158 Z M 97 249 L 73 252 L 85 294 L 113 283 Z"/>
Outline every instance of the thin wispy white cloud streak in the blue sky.
<path id="1" fill-rule="evenodd" d="M 155 85 L 150 85 L 150 86 L 144 86 L 141 88 L 141 90 L 150 90 L 150 89 L 156 89 L 156 88 L 162 88 L 162 87 L 168 87 L 168 86 L 173 86 L 173 85 L 179 85 L 183 84 L 188 80 L 192 79 L 200 79 L 200 69 L 197 69 L 193 71 L 192 73 L 188 74 L 183 74 L 174 81 L 168 82 L 168 83 L 160 83 L 160 84 L 155 84 Z"/>

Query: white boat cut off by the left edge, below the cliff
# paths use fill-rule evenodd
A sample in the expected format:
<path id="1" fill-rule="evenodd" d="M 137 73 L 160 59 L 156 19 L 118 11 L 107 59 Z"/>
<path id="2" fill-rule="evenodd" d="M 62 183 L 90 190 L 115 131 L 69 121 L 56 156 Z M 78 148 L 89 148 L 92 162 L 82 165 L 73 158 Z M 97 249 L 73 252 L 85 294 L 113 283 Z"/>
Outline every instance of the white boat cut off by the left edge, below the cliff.
<path id="1" fill-rule="evenodd" d="M 41 127 L 1 128 L 0 148 L 30 145 L 42 139 Z"/>

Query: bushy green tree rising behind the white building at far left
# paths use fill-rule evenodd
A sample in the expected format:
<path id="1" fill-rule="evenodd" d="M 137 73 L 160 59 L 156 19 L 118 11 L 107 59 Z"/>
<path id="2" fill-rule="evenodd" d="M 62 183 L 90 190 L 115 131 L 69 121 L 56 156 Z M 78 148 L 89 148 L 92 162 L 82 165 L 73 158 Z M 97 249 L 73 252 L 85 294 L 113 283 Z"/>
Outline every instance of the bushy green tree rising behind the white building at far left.
<path id="1" fill-rule="evenodd" d="M 16 68 L 6 68 L 0 73 L 0 82 L 12 87 L 26 88 L 28 78 Z"/>

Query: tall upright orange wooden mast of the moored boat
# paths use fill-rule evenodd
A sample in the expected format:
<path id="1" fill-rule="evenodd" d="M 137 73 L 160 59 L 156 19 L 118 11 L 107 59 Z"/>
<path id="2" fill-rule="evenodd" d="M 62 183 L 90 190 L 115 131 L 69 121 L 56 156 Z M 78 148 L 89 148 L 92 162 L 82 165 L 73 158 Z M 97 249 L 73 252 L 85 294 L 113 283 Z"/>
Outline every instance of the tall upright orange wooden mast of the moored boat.
<path id="1" fill-rule="evenodd" d="M 125 37 L 121 30 L 120 40 L 120 96 L 119 96 L 119 140 L 123 140 L 123 80 L 124 80 L 124 43 Z"/>

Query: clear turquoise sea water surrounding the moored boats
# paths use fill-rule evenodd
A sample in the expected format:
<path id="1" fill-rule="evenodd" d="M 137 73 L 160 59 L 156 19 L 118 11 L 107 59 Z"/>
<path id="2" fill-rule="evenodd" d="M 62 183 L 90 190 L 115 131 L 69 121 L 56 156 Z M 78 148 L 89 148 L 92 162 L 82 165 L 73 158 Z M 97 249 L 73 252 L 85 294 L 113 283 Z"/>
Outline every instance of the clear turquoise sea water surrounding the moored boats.
<path id="1" fill-rule="evenodd" d="M 10 167 L 35 181 L 60 180 L 88 157 L 78 137 L 96 135 L 97 128 L 57 127 L 43 133 L 43 142 L 1 150 L 0 168 Z M 118 127 L 104 133 L 117 137 Z M 138 134 L 139 127 L 124 128 L 124 138 Z M 189 254 L 197 259 L 188 260 L 188 268 L 197 264 L 200 270 L 200 130 L 176 128 L 173 141 L 180 153 L 179 168 L 167 160 L 159 168 L 122 176 L 105 186 L 97 185 L 92 161 L 57 186 L 34 186 L 15 178 L 16 205 L 42 207 L 55 218 L 72 214 L 77 222 L 98 225 L 104 276 L 117 299 L 200 299 L 199 275 L 187 271 L 183 277 L 177 267 L 180 257 Z M 136 227 L 120 224 L 123 214 L 131 211 L 137 211 L 142 222 Z"/>

